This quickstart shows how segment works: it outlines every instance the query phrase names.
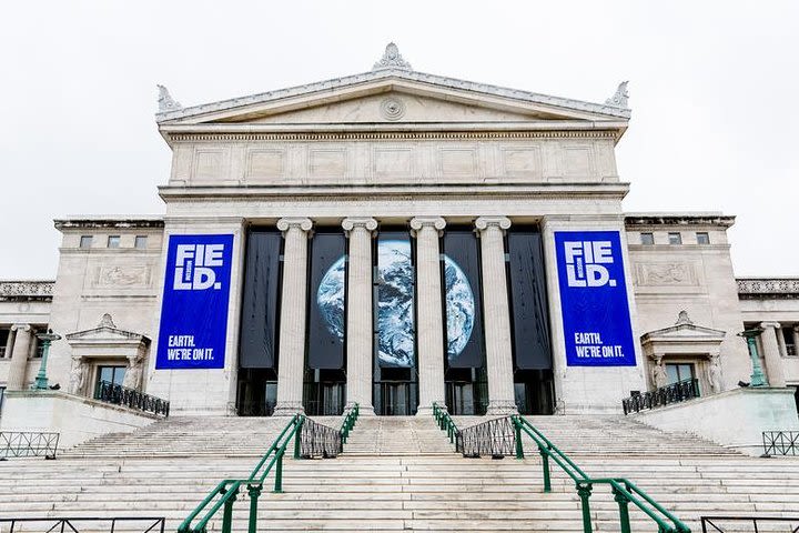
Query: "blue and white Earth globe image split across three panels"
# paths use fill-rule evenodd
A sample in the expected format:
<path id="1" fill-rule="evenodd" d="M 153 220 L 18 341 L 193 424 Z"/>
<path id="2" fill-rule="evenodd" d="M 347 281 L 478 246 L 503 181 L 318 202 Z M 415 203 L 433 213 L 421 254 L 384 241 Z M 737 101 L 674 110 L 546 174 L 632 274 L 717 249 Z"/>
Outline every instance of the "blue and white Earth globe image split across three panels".
<path id="1" fill-rule="evenodd" d="M 325 272 L 316 291 L 316 304 L 327 331 L 344 342 L 344 257 Z M 409 241 L 380 241 L 377 244 L 377 358 L 384 366 L 413 366 L 414 268 Z M 472 338 L 475 299 L 466 274 L 444 255 L 446 289 L 447 358 L 453 362 Z"/>

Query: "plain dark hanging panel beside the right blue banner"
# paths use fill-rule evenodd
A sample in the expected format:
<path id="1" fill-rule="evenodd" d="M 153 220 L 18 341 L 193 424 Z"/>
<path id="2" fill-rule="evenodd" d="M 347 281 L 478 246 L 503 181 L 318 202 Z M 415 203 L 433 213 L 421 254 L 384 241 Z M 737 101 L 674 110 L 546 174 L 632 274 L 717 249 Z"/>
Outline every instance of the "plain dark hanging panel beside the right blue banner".
<path id="1" fill-rule="evenodd" d="M 508 252 L 516 368 L 552 369 L 549 308 L 540 233 L 512 230 L 508 234 Z"/>

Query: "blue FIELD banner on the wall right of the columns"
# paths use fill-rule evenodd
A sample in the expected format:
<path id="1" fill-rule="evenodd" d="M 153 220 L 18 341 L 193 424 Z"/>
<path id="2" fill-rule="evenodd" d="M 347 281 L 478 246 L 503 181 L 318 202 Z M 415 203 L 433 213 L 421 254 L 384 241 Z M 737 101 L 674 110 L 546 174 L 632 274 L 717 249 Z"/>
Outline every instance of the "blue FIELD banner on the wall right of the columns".
<path id="1" fill-rule="evenodd" d="M 566 364 L 635 366 L 618 231 L 556 231 Z"/>

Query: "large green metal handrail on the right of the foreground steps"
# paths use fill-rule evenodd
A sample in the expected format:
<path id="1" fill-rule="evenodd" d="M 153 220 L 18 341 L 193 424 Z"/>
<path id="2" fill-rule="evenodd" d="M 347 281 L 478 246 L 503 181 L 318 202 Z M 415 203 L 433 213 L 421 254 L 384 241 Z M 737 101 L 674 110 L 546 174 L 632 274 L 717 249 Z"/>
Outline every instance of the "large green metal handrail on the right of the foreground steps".
<path id="1" fill-rule="evenodd" d="M 544 474 L 544 492 L 552 492 L 550 459 L 575 482 L 583 507 L 583 531 L 585 533 L 591 533 L 593 531 L 588 500 L 594 485 L 599 484 L 610 485 L 614 500 L 619 506 L 621 533 L 630 533 L 628 509 L 630 503 L 655 521 L 658 525 L 658 533 L 690 533 L 690 529 L 686 524 L 653 500 L 646 492 L 638 489 L 631 481 L 625 477 L 590 477 L 524 416 L 514 415 L 510 419 L 516 430 L 516 459 L 524 459 L 523 432 L 533 439 L 538 446 Z"/>

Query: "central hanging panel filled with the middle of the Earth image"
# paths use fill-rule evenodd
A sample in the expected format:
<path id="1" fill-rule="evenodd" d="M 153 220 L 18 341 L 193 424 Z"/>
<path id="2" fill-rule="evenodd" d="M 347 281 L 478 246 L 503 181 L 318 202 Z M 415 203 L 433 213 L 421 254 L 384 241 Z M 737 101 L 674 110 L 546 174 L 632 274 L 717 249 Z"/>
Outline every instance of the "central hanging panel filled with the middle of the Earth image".
<path id="1" fill-rule="evenodd" d="M 377 363 L 381 368 L 415 366 L 414 265 L 407 231 L 377 238 Z"/>

